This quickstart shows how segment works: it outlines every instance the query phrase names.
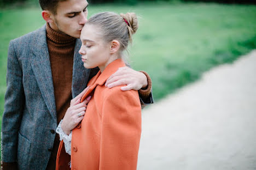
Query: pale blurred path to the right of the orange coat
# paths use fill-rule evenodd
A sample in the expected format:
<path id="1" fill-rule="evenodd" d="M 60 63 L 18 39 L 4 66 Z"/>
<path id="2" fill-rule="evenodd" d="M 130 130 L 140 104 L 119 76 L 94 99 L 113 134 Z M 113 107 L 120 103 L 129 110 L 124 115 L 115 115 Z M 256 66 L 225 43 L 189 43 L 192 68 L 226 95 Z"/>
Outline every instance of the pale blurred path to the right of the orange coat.
<path id="1" fill-rule="evenodd" d="M 139 170 L 256 169 L 256 50 L 142 114 Z"/>

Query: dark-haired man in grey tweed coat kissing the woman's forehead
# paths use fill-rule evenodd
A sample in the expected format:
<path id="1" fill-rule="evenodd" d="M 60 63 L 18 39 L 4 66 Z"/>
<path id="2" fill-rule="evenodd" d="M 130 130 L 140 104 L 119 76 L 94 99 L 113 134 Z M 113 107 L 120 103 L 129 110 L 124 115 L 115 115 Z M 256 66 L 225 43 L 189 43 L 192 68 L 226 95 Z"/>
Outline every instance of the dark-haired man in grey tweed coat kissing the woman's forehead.
<path id="1" fill-rule="evenodd" d="M 86 0 L 39 0 L 45 26 L 11 40 L 7 92 L 2 120 L 3 169 L 55 169 L 59 136 L 55 129 L 65 114 L 86 110 L 74 105 L 98 69 L 85 69 L 78 50 L 87 21 Z M 139 90 L 142 105 L 153 103 L 145 72 L 119 69 L 109 88 Z M 142 89 L 141 89 L 142 88 Z M 85 89 L 85 90 L 84 90 Z M 70 106 L 70 107 L 69 107 Z"/>

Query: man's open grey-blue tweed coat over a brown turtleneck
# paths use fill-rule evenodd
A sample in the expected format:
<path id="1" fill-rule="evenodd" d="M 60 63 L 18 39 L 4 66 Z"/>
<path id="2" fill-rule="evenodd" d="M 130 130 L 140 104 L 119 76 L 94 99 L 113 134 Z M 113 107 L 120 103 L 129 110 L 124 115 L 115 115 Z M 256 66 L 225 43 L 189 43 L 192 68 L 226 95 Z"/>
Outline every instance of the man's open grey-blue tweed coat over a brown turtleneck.
<path id="1" fill-rule="evenodd" d="M 75 43 L 72 96 L 86 87 L 89 75 Z M 7 64 L 7 91 L 2 120 L 4 162 L 18 162 L 19 169 L 45 169 L 57 127 L 53 77 L 45 26 L 11 40 Z"/>

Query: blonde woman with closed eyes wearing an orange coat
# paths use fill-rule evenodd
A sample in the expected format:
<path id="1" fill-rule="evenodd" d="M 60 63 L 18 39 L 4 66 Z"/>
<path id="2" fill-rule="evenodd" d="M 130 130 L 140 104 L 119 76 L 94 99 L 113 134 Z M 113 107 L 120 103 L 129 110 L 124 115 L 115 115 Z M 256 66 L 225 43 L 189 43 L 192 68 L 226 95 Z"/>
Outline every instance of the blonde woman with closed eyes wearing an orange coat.
<path id="1" fill-rule="evenodd" d="M 89 81 L 89 89 L 81 101 L 77 101 L 90 100 L 86 116 L 84 112 L 77 115 L 77 122 L 82 122 L 77 125 L 65 116 L 57 127 L 56 132 L 63 140 L 56 169 L 69 169 L 69 161 L 71 169 L 136 169 L 141 137 L 138 92 L 123 92 L 120 87 L 109 89 L 104 83 L 125 66 L 123 52 L 137 28 L 134 13 L 106 12 L 92 16 L 82 29 L 79 53 L 84 66 L 88 69 L 98 66 L 100 71 Z"/>

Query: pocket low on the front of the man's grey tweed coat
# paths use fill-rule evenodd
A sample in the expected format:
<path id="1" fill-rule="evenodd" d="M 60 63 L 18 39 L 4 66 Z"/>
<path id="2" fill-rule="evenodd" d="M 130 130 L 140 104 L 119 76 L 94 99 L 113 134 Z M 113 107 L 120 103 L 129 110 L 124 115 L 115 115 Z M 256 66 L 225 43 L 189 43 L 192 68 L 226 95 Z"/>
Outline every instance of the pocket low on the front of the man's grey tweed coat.
<path id="1" fill-rule="evenodd" d="M 31 142 L 19 132 L 17 153 L 19 169 L 27 169 L 28 156 L 30 155 L 30 144 Z"/>

